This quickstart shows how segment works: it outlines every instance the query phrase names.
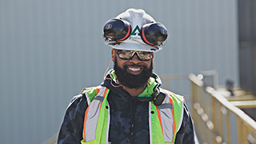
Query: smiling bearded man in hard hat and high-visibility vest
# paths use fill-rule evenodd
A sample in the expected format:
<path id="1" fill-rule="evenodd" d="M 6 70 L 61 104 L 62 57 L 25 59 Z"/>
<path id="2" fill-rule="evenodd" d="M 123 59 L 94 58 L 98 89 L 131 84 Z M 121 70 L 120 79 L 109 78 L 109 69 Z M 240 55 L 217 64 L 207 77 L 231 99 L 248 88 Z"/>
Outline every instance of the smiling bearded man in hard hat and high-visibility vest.
<path id="1" fill-rule="evenodd" d="M 160 88 L 152 72 L 166 27 L 144 10 L 129 9 L 106 22 L 104 38 L 114 70 L 73 98 L 58 143 L 194 143 L 183 97 Z"/>

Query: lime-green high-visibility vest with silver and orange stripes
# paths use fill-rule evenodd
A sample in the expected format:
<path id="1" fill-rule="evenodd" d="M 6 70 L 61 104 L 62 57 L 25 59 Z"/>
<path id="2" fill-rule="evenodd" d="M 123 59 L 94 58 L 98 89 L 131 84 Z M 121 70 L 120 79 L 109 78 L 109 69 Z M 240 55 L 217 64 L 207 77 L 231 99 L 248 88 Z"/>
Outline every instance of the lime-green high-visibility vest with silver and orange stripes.
<path id="1" fill-rule="evenodd" d="M 149 102 L 150 144 L 174 143 L 176 134 L 182 125 L 182 96 L 160 89 L 166 94 L 162 105 L 155 106 Z M 84 118 L 82 144 L 108 143 L 110 128 L 110 105 L 107 95 L 110 90 L 105 86 L 86 89 L 88 107 Z"/>

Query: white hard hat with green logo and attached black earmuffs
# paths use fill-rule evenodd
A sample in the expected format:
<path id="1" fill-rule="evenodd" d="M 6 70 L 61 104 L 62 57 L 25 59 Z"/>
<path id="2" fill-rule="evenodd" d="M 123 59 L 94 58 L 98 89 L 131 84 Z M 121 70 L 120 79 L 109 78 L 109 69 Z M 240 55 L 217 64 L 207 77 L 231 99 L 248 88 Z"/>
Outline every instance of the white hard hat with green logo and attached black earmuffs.
<path id="1" fill-rule="evenodd" d="M 167 38 L 166 27 L 141 9 L 128 9 L 110 19 L 103 31 L 106 45 L 118 50 L 157 52 Z"/>

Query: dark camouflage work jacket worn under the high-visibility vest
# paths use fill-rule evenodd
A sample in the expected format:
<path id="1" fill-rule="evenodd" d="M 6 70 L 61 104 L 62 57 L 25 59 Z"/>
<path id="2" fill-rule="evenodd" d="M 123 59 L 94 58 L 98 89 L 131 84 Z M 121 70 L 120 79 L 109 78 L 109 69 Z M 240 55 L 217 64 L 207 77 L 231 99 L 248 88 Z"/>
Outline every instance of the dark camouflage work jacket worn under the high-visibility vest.
<path id="1" fill-rule="evenodd" d="M 117 84 L 114 83 L 114 85 Z M 123 90 L 122 86 L 112 86 L 109 79 L 105 80 L 102 86 L 110 89 L 107 97 L 110 104 L 109 142 L 112 144 L 150 143 L 149 102 L 139 102 L 138 99 Z M 84 94 L 72 99 L 59 130 L 58 144 L 77 144 L 81 142 L 87 106 Z M 175 143 L 194 143 L 194 126 L 186 105 L 183 114 L 182 126 L 178 130 Z"/>

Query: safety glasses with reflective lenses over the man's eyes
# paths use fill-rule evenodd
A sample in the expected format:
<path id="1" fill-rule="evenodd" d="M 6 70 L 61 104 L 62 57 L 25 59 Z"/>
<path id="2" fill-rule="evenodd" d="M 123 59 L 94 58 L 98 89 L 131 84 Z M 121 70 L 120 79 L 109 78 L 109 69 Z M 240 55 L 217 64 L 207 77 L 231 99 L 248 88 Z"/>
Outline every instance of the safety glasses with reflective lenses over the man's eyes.
<path id="1" fill-rule="evenodd" d="M 146 51 L 134 51 L 134 50 L 116 50 L 119 58 L 124 60 L 130 60 L 134 57 L 134 54 L 137 54 L 138 59 L 141 61 L 149 61 L 152 58 L 152 52 Z"/>

